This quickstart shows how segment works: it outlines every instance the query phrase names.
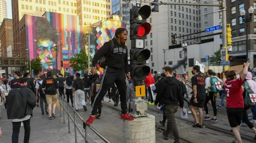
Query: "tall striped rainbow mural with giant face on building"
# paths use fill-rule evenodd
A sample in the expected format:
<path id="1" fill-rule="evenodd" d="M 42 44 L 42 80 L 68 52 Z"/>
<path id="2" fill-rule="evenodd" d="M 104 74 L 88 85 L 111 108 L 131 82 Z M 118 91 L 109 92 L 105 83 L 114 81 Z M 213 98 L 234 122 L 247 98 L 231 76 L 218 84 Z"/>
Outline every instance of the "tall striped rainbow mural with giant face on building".
<path id="1" fill-rule="evenodd" d="M 44 71 L 60 73 L 63 58 L 65 72 L 73 75 L 69 59 L 79 53 L 82 25 L 73 15 L 46 12 L 43 17 L 26 15 L 26 39 L 29 59 L 39 57 Z"/>

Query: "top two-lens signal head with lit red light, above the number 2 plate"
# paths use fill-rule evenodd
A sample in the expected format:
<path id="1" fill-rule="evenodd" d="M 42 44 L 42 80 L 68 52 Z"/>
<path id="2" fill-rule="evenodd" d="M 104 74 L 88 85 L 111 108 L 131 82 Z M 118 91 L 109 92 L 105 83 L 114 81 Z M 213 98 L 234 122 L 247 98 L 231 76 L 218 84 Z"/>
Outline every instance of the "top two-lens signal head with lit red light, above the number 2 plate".
<path id="1" fill-rule="evenodd" d="M 151 25 L 146 22 L 151 14 L 150 6 L 134 6 L 130 9 L 130 39 L 146 39 Z"/>

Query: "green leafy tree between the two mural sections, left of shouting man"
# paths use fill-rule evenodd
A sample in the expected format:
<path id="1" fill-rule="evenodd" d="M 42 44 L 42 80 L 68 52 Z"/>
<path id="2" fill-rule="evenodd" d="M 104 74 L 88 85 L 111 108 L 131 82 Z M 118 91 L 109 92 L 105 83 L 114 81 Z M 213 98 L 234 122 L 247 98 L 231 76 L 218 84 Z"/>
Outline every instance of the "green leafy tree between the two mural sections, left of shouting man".
<path id="1" fill-rule="evenodd" d="M 88 68 L 88 55 L 84 50 L 81 50 L 80 53 L 73 56 L 70 61 L 70 66 L 73 67 L 73 71 L 83 71 Z M 92 57 L 90 56 L 90 66 L 91 66 Z"/>

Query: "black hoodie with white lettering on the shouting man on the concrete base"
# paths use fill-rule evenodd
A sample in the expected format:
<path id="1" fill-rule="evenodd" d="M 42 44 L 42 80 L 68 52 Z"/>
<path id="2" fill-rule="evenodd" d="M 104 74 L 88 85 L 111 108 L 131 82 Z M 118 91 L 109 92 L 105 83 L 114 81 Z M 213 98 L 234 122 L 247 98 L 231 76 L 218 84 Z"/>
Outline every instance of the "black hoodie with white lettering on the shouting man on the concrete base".
<path id="1" fill-rule="evenodd" d="M 92 59 L 91 66 L 95 67 L 101 57 L 108 55 L 106 57 L 106 66 L 113 69 L 124 69 L 127 74 L 129 72 L 127 47 L 125 44 L 120 45 L 116 38 L 113 38 L 113 42 L 114 47 L 111 51 L 111 41 L 104 43 L 104 45 L 99 48 Z"/>

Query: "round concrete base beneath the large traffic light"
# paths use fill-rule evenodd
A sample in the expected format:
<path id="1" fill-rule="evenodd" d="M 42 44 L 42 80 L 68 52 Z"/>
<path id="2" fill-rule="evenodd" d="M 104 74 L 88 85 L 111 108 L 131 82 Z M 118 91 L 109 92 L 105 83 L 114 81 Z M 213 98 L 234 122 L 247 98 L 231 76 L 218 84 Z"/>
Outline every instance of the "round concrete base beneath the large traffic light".
<path id="1" fill-rule="evenodd" d="M 123 121 L 124 143 L 155 143 L 155 116 L 138 117 L 133 121 Z"/>

